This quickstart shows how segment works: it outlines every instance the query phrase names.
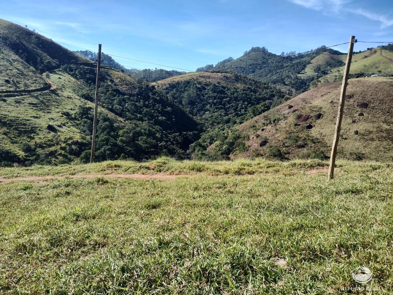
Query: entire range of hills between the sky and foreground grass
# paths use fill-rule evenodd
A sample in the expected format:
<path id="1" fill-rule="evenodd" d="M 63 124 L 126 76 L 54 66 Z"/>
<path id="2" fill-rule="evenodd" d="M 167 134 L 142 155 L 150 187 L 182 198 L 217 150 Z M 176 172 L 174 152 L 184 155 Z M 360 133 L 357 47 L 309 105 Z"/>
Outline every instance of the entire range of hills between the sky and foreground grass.
<path id="1" fill-rule="evenodd" d="M 96 54 L 79 51 L 85 58 L 5 20 L 0 20 L 0 44 L 0 165 L 88 162 Z M 393 124 L 389 48 L 353 56 L 347 106 L 353 108 L 355 122 L 343 125 L 343 136 L 351 144 L 343 157 L 386 160 L 391 155 L 386 152 Z M 341 80 L 345 55 L 325 47 L 293 54 L 279 56 L 253 47 L 240 58 L 208 65 L 205 69 L 213 70 L 209 73 L 145 69 L 128 74 L 103 55 L 96 160 L 159 155 L 205 160 L 328 157 L 326 138 L 334 129 L 330 125 L 334 127 L 339 91 L 331 90 L 340 82 L 299 95 L 290 101 L 292 106 L 286 101 L 294 93 Z M 385 77 L 355 79 L 372 73 Z M 157 82 L 135 86 L 142 81 Z M 368 109 L 360 111 L 363 103 Z M 312 127 L 307 129 L 300 119 Z M 350 137 L 355 131 L 359 136 Z M 367 152 L 358 152 L 359 143 Z"/>

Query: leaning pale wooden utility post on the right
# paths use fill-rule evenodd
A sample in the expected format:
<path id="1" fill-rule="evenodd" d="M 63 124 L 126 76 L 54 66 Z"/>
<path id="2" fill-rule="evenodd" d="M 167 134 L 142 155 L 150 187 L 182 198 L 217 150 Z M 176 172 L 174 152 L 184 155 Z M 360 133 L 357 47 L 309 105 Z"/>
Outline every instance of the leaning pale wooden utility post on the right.
<path id="1" fill-rule="evenodd" d="M 337 146 L 338 146 L 338 140 L 340 138 L 341 122 L 343 119 L 343 112 L 344 112 L 345 93 L 347 91 L 348 75 L 349 75 L 349 68 L 351 67 L 354 41 L 355 41 L 355 36 L 351 36 L 349 42 L 348 55 L 347 55 L 347 63 L 345 64 L 343 82 L 341 84 L 340 104 L 338 105 L 336 130 L 334 131 L 332 153 L 330 155 L 329 173 L 327 174 L 328 180 L 332 179 L 334 176 L 334 165 L 336 164 Z"/>

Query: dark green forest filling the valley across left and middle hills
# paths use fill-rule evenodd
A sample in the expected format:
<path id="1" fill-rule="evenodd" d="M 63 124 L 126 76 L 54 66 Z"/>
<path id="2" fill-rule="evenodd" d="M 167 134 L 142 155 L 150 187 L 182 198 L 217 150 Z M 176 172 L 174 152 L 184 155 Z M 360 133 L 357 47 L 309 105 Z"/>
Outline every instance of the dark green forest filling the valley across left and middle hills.
<path id="1" fill-rule="evenodd" d="M 93 68 L 70 64 L 62 69 L 88 89 L 94 89 Z M 206 146 L 208 142 L 222 138 L 229 128 L 284 101 L 282 91 L 274 86 L 234 72 L 225 77 L 231 79 L 226 84 L 194 78 L 174 81 L 160 89 L 145 85 L 127 91 L 101 92 L 99 105 L 125 119 L 125 123 L 116 126 L 108 116 L 99 115 L 97 160 L 118 157 L 141 160 L 157 155 L 194 157 L 195 146 Z M 115 86 L 105 71 L 101 72 L 100 80 L 103 81 L 100 89 Z M 237 84 L 231 84 L 234 81 Z M 83 98 L 93 101 L 92 95 L 83 95 Z M 92 119 L 90 108 L 82 106 L 78 109 L 81 131 L 89 138 Z M 206 136 L 210 140 L 196 143 L 201 136 L 202 141 Z M 236 146 L 231 144 L 215 158 L 229 155 L 234 148 Z M 89 150 L 81 153 L 81 160 L 87 161 L 89 153 Z"/>

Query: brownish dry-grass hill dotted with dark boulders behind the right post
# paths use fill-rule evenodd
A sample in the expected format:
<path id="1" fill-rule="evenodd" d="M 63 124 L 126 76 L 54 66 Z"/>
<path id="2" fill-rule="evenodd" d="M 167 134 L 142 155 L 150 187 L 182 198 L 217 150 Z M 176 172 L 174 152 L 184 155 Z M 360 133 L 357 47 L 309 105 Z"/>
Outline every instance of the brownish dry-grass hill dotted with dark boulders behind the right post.
<path id="1" fill-rule="evenodd" d="M 244 149 L 232 157 L 327 158 L 340 82 L 309 90 L 238 126 Z M 393 78 L 350 79 L 338 157 L 393 159 Z"/>

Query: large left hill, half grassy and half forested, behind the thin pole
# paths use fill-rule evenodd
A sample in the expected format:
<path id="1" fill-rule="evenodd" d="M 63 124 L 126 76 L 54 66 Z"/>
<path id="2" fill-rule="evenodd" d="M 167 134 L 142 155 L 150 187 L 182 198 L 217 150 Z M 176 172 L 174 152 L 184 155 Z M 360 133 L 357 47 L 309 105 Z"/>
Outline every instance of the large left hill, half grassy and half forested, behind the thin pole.
<path id="1" fill-rule="evenodd" d="M 0 40 L 2 164 L 88 160 L 93 96 L 75 94 L 94 91 L 94 62 L 5 20 Z M 112 67 L 101 69 L 100 90 L 135 83 Z M 99 106 L 97 160 L 184 157 L 200 132 L 193 118 L 152 86 L 103 91 Z"/>

